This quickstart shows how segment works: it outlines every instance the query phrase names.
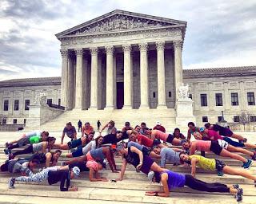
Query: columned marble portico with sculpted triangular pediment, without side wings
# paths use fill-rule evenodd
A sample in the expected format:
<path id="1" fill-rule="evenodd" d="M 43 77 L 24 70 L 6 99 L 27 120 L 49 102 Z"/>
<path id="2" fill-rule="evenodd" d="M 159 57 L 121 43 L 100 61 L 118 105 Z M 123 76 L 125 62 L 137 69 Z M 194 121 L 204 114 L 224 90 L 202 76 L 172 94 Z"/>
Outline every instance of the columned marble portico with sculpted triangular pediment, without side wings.
<path id="1" fill-rule="evenodd" d="M 56 34 L 62 106 L 174 108 L 186 22 L 114 10 Z"/>

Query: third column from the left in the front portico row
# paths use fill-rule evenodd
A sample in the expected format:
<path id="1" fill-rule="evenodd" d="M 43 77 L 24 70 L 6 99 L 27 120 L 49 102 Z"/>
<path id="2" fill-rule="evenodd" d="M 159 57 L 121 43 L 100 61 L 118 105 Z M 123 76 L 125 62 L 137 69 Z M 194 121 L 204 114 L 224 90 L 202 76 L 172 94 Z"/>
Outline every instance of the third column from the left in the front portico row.
<path id="1" fill-rule="evenodd" d="M 90 48 L 90 109 L 98 108 L 98 48 Z"/>

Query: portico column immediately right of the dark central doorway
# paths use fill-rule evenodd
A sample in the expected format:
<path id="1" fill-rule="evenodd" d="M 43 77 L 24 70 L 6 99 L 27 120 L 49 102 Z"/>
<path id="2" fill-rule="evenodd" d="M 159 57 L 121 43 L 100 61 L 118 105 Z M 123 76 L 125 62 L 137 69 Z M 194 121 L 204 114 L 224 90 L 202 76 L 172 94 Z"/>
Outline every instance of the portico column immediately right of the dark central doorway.
<path id="1" fill-rule="evenodd" d="M 123 108 L 132 108 L 132 65 L 130 61 L 131 45 L 122 45 L 124 58 L 124 106 Z"/>

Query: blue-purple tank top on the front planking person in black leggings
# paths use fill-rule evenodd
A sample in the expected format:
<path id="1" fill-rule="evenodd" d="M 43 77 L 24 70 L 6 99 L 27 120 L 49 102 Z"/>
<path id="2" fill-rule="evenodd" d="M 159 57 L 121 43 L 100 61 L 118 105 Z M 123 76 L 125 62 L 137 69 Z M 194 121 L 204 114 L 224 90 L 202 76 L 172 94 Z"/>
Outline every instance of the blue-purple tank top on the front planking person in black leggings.
<path id="1" fill-rule="evenodd" d="M 169 190 L 185 186 L 185 175 L 181 175 L 169 170 L 162 172 L 162 174 L 163 173 L 167 173 L 168 175 L 167 184 Z"/>

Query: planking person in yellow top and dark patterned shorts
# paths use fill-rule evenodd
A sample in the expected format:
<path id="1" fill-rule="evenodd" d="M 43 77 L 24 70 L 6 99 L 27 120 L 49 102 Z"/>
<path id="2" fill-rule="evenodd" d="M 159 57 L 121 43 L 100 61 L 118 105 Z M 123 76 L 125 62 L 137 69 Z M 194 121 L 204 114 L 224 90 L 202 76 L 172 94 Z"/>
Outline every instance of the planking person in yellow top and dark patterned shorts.
<path id="1" fill-rule="evenodd" d="M 201 155 L 189 156 L 184 152 L 182 152 L 179 156 L 183 162 L 191 163 L 191 175 L 193 177 L 196 173 L 196 167 L 199 167 L 207 171 L 217 171 L 219 176 L 222 176 L 223 173 L 228 175 L 241 175 L 242 177 L 253 180 L 256 185 L 256 176 L 251 175 L 248 171 L 242 171 L 233 167 L 229 167 L 221 160 L 209 159 Z"/>

